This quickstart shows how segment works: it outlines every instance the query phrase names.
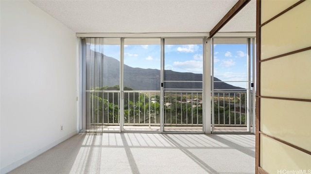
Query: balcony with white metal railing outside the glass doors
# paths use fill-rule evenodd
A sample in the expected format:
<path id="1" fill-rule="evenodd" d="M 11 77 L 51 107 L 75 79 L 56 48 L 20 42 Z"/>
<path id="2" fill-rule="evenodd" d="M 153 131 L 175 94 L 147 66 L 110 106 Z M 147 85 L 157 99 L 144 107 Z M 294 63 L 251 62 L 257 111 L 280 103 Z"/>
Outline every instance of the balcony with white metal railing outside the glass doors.
<path id="1" fill-rule="evenodd" d="M 89 90 L 87 96 L 86 132 L 119 131 L 120 91 Z M 215 91 L 213 101 L 213 131 L 246 131 L 246 91 Z M 123 112 L 124 131 L 160 131 L 160 92 L 124 91 Z M 202 132 L 202 91 L 165 91 L 163 115 L 164 131 Z"/>

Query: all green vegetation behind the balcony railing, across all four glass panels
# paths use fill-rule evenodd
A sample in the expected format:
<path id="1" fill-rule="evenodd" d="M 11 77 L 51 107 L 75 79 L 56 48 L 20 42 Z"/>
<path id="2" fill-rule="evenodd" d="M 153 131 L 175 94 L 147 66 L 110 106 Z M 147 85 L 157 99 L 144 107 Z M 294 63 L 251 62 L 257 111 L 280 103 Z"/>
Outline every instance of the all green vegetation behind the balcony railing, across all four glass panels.
<path id="1" fill-rule="evenodd" d="M 86 114 L 90 117 L 91 123 L 120 123 L 120 93 L 117 92 L 119 90 L 119 86 L 105 86 L 94 88 L 94 92 L 87 93 L 89 99 L 87 103 L 89 104 L 87 104 Z M 130 87 L 124 87 L 124 90 L 133 91 Z M 203 123 L 201 93 L 166 93 L 164 106 L 164 122 L 166 125 L 189 126 L 189 124 Z M 245 94 L 237 95 L 235 100 L 232 93 L 231 95 L 227 93 L 219 97 L 215 95 L 214 117 L 216 125 L 245 124 Z M 124 123 L 132 125 L 159 124 L 159 93 L 124 92 Z"/>

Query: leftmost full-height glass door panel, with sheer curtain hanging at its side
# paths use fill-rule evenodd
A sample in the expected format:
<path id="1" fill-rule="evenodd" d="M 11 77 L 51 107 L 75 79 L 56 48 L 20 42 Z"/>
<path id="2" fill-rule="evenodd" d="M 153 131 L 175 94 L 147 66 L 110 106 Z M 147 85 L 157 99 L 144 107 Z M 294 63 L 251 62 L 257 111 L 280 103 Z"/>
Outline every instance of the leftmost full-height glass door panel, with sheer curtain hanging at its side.
<path id="1" fill-rule="evenodd" d="M 120 131 L 120 39 L 82 40 L 82 128 Z"/>

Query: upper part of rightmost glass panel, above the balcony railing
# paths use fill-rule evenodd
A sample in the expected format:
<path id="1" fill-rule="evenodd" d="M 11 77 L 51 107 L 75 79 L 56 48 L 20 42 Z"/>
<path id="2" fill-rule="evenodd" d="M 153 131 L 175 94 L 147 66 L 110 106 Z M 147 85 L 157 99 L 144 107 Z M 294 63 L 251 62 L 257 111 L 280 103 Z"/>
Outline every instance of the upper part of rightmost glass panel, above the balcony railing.
<path id="1" fill-rule="evenodd" d="M 247 39 L 214 39 L 214 88 L 247 87 Z M 219 83 L 217 81 L 223 81 Z M 217 83 L 216 83 L 217 82 Z"/>

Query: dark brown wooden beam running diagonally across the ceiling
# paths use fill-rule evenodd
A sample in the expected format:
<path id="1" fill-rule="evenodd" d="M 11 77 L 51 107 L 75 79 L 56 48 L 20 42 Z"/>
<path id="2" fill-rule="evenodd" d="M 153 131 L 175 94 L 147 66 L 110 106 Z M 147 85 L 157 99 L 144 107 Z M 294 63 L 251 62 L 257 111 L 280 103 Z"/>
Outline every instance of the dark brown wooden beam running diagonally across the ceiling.
<path id="1" fill-rule="evenodd" d="M 209 38 L 212 38 L 220 29 L 222 29 L 229 20 L 238 14 L 240 10 L 249 2 L 250 0 L 239 0 L 225 16 L 218 22 L 218 24 L 209 31 Z"/>

